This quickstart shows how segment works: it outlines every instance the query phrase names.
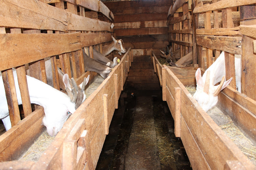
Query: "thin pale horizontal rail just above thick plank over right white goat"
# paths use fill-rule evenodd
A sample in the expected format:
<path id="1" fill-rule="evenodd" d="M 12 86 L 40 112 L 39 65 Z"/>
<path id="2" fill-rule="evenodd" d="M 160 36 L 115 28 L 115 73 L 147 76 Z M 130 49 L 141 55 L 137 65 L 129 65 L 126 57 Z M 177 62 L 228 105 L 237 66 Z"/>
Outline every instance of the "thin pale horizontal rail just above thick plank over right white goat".
<path id="1" fill-rule="evenodd" d="M 236 28 L 218 28 L 218 29 L 196 29 L 196 34 L 197 35 L 241 35 L 241 31 L 239 31 L 240 27 Z"/>

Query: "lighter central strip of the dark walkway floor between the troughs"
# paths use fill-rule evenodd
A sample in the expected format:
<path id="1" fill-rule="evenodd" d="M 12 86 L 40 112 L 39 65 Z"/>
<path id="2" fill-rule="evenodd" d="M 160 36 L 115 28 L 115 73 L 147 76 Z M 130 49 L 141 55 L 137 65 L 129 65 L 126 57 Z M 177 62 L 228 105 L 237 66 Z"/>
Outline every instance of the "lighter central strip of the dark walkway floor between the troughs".
<path id="1" fill-rule="evenodd" d="M 160 169 L 152 97 L 138 97 L 129 146 L 125 157 L 126 170 Z"/>

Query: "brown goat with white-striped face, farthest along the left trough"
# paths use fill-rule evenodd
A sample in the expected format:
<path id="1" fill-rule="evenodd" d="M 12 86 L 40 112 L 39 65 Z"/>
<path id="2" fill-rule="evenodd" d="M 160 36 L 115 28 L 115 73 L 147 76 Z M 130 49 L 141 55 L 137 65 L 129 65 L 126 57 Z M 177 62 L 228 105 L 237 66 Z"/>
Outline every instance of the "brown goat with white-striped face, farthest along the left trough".
<path id="1" fill-rule="evenodd" d="M 106 56 L 114 50 L 118 50 L 119 55 L 121 55 L 122 53 L 126 53 L 124 41 L 122 39 L 116 40 L 113 36 L 112 39 L 113 41 L 110 44 L 102 47 L 102 54 Z"/>

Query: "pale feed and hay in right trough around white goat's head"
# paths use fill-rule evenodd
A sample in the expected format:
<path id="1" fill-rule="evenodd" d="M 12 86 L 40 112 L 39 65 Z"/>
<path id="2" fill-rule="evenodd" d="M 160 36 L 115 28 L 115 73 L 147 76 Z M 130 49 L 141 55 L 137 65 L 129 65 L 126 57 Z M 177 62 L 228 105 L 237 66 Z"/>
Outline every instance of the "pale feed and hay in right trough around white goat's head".
<path id="1" fill-rule="evenodd" d="M 195 87 L 186 87 L 193 96 L 196 92 Z M 216 106 L 209 109 L 207 114 L 223 130 L 223 132 L 236 144 L 236 146 L 256 165 L 256 146 L 252 141 L 244 136 L 239 128 L 233 123 L 229 116 L 226 116 Z"/>

